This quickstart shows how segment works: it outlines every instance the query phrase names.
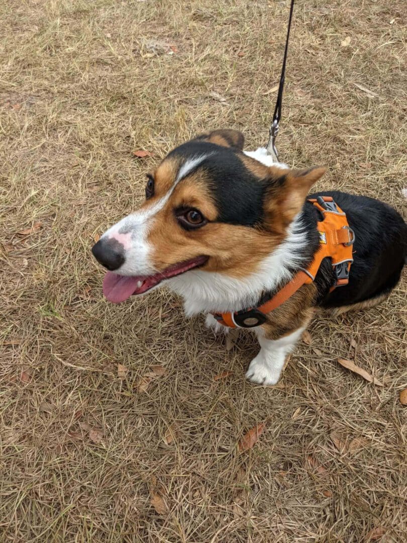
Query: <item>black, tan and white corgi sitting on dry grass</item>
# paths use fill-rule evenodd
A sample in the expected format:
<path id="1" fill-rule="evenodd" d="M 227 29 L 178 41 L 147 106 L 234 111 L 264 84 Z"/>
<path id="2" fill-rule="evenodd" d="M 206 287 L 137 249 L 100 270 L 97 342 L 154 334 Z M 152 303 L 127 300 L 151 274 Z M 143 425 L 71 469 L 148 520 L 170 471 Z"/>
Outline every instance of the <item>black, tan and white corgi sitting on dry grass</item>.
<path id="1" fill-rule="evenodd" d="M 243 146 L 239 131 L 215 130 L 176 147 L 147 174 L 145 203 L 92 252 L 109 270 L 103 292 L 113 303 L 165 285 L 183 298 L 187 315 L 206 313 L 215 331 L 228 330 L 219 315 L 235 315 L 229 325 L 251 327 L 260 344 L 247 378 L 272 385 L 318 307 L 339 314 L 390 294 L 407 257 L 407 225 L 373 198 L 325 191 L 307 199 L 325 168 L 293 170 L 273 163 L 264 148 Z M 326 210 L 334 219 L 346 216 L 341 228 L 349 238 L 341 243 L 351 249 L 345 267 L 339 262 L 342 283 L 329 255 L 314 275 L 307 271 L 322 255 Z M 287 291 L 301 270 L 309 280 L 271 311 L 253 313 Z M 249 318 L 239 320 L 241 314 Z"/>

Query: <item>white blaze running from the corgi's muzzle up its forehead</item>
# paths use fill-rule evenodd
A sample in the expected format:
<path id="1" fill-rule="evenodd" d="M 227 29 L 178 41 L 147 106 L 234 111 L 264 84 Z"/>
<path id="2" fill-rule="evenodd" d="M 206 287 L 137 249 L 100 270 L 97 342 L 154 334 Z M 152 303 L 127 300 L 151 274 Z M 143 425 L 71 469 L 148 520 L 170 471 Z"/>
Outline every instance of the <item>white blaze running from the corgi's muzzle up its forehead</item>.
<path id="1" fill-rule="evenodd" d="M 116 270 L 119 275 L 151 275 L 157 272 L 151 263 L 153 248 L 148 242 L 148 234 L 154 228 L 155 217 L 167 204 L 176 185 L 211 154 L 187 159 L 180 167 L 173 186 L 162 198 L 124 217 L 101 236 L 115 239 L 124 247 L 124 263 Z"/>

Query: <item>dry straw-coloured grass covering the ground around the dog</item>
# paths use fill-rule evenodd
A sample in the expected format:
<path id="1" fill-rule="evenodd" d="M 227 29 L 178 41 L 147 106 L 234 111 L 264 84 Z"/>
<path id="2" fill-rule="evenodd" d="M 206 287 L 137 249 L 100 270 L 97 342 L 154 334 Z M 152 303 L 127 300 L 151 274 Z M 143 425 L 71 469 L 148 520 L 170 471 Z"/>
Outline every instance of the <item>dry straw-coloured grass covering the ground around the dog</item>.
<path id="1" fill-rule="evenodd" d="M 378 526 L 405 541 L 405 281 L 378 308 L 316 320 L 264 389 L 244 379 L 251 337 L 226 351 L 167 293 L 109 305 L 90 255 L 176 143 L 222 127 L 265 142 L 287 14 L 265 0 L 1 3 L 1 541 L 350 543 Z M 329 167 L 320 188 L 399 210 L 404 17 L 401 0 L 298 0 L 278 142 L 297 167 Z M 138 392 L 154 364 L 167 374 Z M 332 432 L 364 440 L 339 451 Z"/>

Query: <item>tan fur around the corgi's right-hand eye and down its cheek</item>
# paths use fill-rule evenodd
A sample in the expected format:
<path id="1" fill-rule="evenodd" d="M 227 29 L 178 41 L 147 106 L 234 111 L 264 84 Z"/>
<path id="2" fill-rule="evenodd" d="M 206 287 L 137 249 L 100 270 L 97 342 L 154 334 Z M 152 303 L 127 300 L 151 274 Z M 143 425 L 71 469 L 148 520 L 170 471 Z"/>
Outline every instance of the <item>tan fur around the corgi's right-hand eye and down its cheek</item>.
<path id="1" fill-rule="evenodd" d="M 185 230 L 175 210 L 194 207 L 209 222 L 196 230 Z M 152 262 L 157 270 L 196 256 L 209 256 L 202 269 L 245 277 L 255 271 L 283 236 L 255 228 L 215 222 L 217 208 L 208 190 L 205 174 L 195 172 L 179 183 L 164 208 L 157 213 L 148 243 L 154 248 Z M 213 222 L 211 222 L 213 221 Z"/>

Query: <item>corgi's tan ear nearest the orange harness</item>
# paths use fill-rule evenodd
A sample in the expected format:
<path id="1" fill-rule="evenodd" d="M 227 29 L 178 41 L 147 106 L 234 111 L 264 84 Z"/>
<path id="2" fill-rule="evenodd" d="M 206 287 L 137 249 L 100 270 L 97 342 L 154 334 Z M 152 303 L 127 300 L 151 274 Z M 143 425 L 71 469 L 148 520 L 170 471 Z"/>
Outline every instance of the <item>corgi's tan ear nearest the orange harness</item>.
<path id="1" fill-rule="evenodd" d="M 325 174 L 326 168 L 314 166 L 306 170 L 269 168 L 266 181 L 265 214 L 269 226 L 282 231 L 301 211 L 310 188 Z"/>

